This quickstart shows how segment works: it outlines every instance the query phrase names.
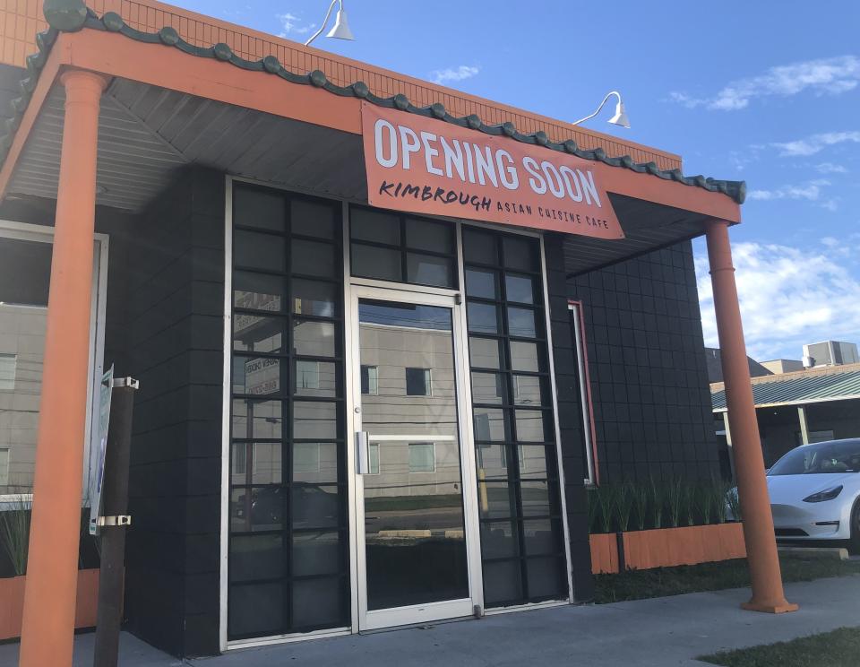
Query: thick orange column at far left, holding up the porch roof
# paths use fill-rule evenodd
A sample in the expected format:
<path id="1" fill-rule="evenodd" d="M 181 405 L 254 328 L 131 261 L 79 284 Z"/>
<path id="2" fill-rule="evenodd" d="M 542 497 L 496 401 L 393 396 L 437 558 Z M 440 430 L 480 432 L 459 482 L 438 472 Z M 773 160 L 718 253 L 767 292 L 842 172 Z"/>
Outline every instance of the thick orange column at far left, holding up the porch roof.
<path id="1" fill-rule="evenodd" d="M 21 667 L 70 667 L 74 637 L 96 208 L 99 100 L 106 80 L 68 71 L 47 300 Z"/>

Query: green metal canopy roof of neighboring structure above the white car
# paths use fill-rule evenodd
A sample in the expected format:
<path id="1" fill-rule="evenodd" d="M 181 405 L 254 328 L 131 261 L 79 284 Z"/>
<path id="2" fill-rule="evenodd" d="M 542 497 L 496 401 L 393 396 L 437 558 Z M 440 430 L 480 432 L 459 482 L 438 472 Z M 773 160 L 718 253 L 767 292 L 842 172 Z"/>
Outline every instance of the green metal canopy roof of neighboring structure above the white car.
<path id="1" fill-rule="evenodd" d="M 710 385 L 715 412 L 727 411 L 723 383 Z M 802 405 L 860 398 L 860 364 L 813 368 L 753 379 L 753 401 L 757 408 Z"/>

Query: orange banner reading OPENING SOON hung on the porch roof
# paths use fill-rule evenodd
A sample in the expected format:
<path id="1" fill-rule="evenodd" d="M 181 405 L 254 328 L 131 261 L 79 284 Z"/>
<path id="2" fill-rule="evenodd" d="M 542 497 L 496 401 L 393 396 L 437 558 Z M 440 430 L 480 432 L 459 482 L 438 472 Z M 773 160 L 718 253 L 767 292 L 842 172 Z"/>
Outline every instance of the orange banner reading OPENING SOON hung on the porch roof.
<path id="1" fill-rule="evenodd" d="M 362 103 L 370 204 L 624 238 L 589 160 Z"/>

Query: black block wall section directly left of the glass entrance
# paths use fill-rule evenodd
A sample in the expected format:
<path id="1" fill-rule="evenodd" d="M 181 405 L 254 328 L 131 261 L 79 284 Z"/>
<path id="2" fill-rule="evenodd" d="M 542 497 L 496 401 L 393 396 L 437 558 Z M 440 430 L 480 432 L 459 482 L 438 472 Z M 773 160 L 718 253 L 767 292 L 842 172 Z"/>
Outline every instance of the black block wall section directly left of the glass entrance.
<path id="1" fill-rule="evenodd" d="M 111 237 L 127 264 L 112 266 L 106 362 L 125 348 L 117 372 L 141 382 L 125 611 L 128 629 L 176 655 L 219 651 L 224 201 L 223 175 L 190 169 Z"/>

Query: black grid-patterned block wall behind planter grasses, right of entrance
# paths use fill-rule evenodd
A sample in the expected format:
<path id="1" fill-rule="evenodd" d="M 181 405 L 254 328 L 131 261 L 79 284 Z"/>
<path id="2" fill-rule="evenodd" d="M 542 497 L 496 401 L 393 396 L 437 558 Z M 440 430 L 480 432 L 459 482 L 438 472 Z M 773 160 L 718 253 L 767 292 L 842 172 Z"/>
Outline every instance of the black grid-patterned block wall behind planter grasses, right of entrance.
<path id="1" fill-rule="evenodd" d="M 568 282 L 583 304 L 601 482 L 719 474 L 687 241 Z"/>

